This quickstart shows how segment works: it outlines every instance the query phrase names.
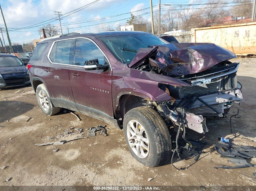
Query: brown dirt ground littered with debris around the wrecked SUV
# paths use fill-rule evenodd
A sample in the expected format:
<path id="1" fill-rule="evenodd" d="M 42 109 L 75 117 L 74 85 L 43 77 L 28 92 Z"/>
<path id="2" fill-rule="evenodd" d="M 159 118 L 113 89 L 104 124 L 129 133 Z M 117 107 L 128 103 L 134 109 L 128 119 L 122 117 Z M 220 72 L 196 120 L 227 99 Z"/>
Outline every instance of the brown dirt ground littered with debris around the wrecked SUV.
<path id="1" fill-rule="evenodd" d="M 241 118 L 232 118 L 234 138 L 227 118 L 209 120 L 206 134 L 187 132 L 194 139 L 208 142 L 199 160 L 177 161 L 175 166 L 187 167 L 176 170 L 171 162 L 161 167 L 146 167 L 136 161 L 128 151 L 122 130 L 82 115 L 78 119 L 60 112 L 55 116 L 44 115 L 36 101 L 31 86 L 0 91 L 0 185 L 189 185 L 189 186 L 255 186 L 255 168 L 214 169 L 228 165 L 228 158 L 221 158 L 213 145 L 218 137 L 233 138 L 238 145 L 256 146 L 256 59 L 238 58 L 240 62 L 238 81 L 242 83 L 244 99 L 240 105 Z M 19 91 L 21 90 L 21 91 Z M 19 91 L 19 92 L 17 92 Z M 237 112 L 237 103 L 231 108 L 229 117 Z M 28 120 L 31 117 L 30 120 Z M 96 117 L 97 118 L 97 117 Z M 36 143 L 70 140 L 88 135 L 87 128 L 107 125 L 109 136 L 71 141 L 63 145 L 35 146 Z M 83 133 L 63 131 L 82 128 Z M 70 129 L 76 132 L 74 129 Z M 66 136 L 66 137 L 65 137 Z M 248 137 L 253 140 L 242 139 Z M 10 138 L 12 138 L 10 140 Z M 59 149 L 57 152 L 53 150 Z M 177 158 L 177 157 L 175 157 Z M 249 160 L 256 164 L 256 158 Z M 155 177 L 158 175 L 157 177 Z M 6 179 L 12 178 L 6 182 Z M 148 178 L 155 179 L 148 181 Z"/>

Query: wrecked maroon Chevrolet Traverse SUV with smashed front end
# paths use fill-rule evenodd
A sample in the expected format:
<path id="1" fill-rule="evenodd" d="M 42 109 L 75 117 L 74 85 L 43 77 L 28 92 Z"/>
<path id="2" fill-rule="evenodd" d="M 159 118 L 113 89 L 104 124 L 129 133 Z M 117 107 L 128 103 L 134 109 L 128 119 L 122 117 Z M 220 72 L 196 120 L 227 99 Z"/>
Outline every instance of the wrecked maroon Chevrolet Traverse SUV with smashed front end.
<path id="1" fill-rule="evenodd" d="M 72 33 L 38 43 L 28 68 L 46 115 L 63 107 L 108 122 L 134 158 L 159 166 L 171 157 L 170 127 L 207 132 L 204 117 L 225 117 L 242 100 L 235 57 L 145 32 Z"/>

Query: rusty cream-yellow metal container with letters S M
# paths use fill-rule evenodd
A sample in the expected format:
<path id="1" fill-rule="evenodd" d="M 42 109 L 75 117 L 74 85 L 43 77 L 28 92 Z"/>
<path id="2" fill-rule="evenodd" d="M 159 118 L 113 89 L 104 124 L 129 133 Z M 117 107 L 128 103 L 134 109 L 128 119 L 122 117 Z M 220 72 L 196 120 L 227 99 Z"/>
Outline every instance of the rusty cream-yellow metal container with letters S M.
<path id="1" fill-rule="evenodd" d="M 192 43 L 214 43 L 237 56 L 256 55 L 256 22 L 191 29 Z"/>

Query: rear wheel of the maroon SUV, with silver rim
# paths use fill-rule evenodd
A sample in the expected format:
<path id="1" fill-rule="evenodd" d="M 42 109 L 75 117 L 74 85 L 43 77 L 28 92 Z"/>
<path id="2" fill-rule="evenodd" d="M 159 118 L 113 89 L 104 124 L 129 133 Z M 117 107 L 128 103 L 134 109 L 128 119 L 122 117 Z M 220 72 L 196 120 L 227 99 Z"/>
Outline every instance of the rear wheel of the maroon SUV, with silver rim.
<path id="1" fill-rule="evenodd" d="M 49 93 L 44 84 L 40 84 L 36 88 L 36 98 L 39 107 L 41 108 L 42 112 L 46 115 L 54 115 L 60 112 L 60 107 L 54 107 Z"/>

